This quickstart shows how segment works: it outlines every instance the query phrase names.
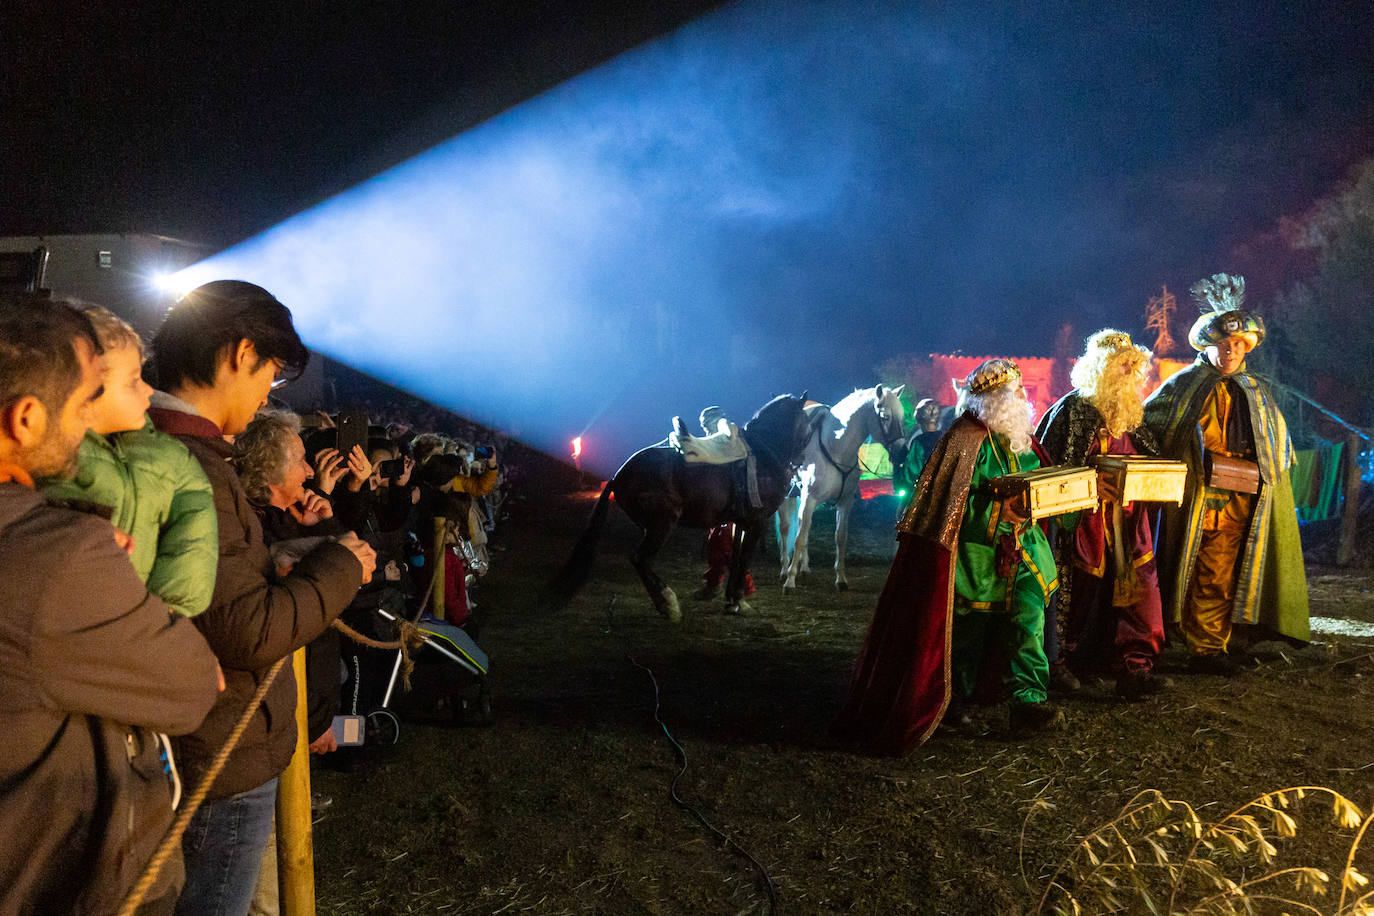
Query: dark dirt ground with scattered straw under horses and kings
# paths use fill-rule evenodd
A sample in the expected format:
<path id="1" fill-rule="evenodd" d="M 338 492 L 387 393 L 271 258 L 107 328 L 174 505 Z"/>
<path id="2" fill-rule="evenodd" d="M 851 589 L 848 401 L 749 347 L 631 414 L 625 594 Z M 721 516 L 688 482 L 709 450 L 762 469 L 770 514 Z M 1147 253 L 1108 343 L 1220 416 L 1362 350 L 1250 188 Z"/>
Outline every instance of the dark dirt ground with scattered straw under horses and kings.
<path id="1" fill-rule="evenodd" d="M 1187 674 L 1171 648 L 1161 698 L 1088 687 L 1059 699 L 1066 728 L 1032 740 L 1010 740 L 989 707 L 904 759 L 863 757 L 827 725 L 892 556 L 890 507 L 872 501 L 853 526 L 848 592 L 831 585 L 833 514 L 818 512 L 793 595 L 769 537 L 743 615 L 688 597 L 701 533 L 677 531 L 661 560 L 677 626 L 639 586 L 633 527 L 613 511 L 591 584 L 540 617 L 539 586 L 589 508 L 525 501 L 499 533 L 480 592 L 495 724 L 451 725 L 416 698 L 396 747 L 316 768 L 334 799 L 315 828 L 322 913 L 1022 913 L 1143 788 L 1204 817 L 1287 786 L 1374 803 L 1374 637 L 1260 645 L 1235 680 Z M 1314 617 L 1374 622 L 1370 570 L 1311 569 L 1309 582 Z M 665 731 L 686 755 L 680 798 L 757 868 L 675 805 Z M 1308 808 L 1281 856 L 1336 868 L 1351 832 Z M 1371 860 L 1356 861 L 1374 873 Z"/>

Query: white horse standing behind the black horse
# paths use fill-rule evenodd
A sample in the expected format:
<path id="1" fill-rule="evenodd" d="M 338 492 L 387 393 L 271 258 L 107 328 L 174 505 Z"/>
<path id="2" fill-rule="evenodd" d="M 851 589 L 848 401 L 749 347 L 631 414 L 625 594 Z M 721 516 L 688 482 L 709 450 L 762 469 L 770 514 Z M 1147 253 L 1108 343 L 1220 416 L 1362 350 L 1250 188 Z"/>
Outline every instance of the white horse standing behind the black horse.
<path id="1" fill-rule="evenodd" d="M 807 452 L 797 467 L 796 483 L 801 496 L 789 496 L 778 507 L 778 553 L 782 562 L 783 591 L 797 588 L 797 573 L 811 571 L 807 538 L 811 536 L 811 515 L 818 505 L 835 507 L 835 588 L 848 589 L 845 578 L 845 542 L 849 537 L 849 511 L 859 492 L 859 446 L 870 437 L 882 442 L 893 464 L 905 456 L 905 413 L 901 389 L 875 386 L 859 389 L 833 408 L 813 408 L 813 430 L 807 441 Z M 787 553 L 787 530 L 797 515 L 797 544 Z"/>

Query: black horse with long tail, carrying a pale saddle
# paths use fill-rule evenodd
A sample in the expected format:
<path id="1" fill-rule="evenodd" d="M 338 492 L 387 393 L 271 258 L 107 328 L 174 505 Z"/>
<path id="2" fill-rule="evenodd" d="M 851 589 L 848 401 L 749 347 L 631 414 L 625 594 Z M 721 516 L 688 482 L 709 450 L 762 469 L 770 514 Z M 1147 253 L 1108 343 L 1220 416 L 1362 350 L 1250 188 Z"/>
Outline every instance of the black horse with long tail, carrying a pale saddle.
<path id="1" fill-rule="evenodd" d="M 742 433 L 754 455 L 758 497 L 763 503 L 757 508 L 750 505 L 741 478 L 736 477 L 739 470 L 734 466 L 688 464 L 666 444 L 653 445 L 629 456 L 602 489 L 587 530 L 577 540 L 573 555 L 562 571 L 548 586 L 545 606 L 567 604 L 591 577 L 596 545 L 614 493 L 616 504 L 644 531 L 629 562 L 643 580 L 654 607 L 673 623 L 682 619 L 682 610 L 677 606 L 677 596 L 654 573 L 654 558 L 679 525 L 709 529 L 734 522 L 735 551 L 730 564 L 730 580 L 725 584 L 725 603 L 731 611 L 739 612 L 749 559 L 764 526 L 787 493 L 794 466 L 807 448 L 811 430 L 801 409 L 805 402 L 805 393 L 800 398 L 780 394 L 758 408 L 758 412 L 745 423 Z"/>

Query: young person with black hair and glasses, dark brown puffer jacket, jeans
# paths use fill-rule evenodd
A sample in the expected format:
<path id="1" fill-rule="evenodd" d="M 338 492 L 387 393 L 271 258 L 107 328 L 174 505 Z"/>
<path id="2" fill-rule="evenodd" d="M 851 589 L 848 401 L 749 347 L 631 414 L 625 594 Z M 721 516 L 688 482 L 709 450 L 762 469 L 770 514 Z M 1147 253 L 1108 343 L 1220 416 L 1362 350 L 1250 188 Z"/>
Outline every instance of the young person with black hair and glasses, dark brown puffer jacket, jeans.
<path id="1" fill-rule="evenodd" d="M 251 283 L 207 283 L 173 306 L 153 347 L 161 391 L 150 415 L 201 461 L 220 525 L 214 596 L 195 625 L 218 655 L 228 688 L 181 742 L 194 786 L 273 663 L 324 632 L 371 577 L 375 556 L 349 531 L 276 577 L 262 526 L 225 460 L 232 448 L 224 437 L 242 433 L 278 376 L 298 374 L 309 358 L 284 305 Z M 179 913 L 247 912 L 272 829 L 276 779 L 295 751 L 295 681 L 284 667 L 187 829 Z"/>

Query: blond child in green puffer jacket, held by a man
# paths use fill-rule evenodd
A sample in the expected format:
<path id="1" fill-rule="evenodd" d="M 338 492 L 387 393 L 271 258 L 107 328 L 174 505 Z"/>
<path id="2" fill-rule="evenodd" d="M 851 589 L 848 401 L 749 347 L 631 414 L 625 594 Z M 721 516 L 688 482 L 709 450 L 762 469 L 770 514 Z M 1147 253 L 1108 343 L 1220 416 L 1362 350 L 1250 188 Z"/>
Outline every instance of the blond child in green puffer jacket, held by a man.
<path id="1" fill-rule="evenodd" d="M 104 347 L 104 389 L 91 404 L 76 477 L 44 485 L 54 500 L 98 504 L 148 591 L 185 617 L 209 606 L 220 562 L 210 482 L 181 442 L 153 428 L 143 341 L 109 309 L 81 306 Z"/>

